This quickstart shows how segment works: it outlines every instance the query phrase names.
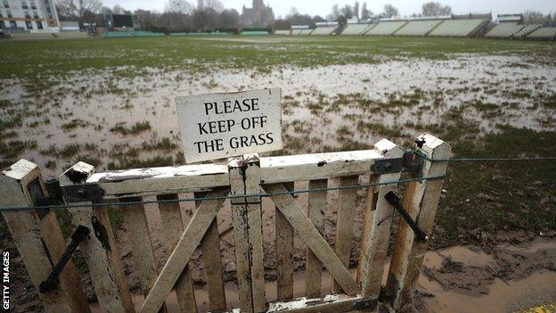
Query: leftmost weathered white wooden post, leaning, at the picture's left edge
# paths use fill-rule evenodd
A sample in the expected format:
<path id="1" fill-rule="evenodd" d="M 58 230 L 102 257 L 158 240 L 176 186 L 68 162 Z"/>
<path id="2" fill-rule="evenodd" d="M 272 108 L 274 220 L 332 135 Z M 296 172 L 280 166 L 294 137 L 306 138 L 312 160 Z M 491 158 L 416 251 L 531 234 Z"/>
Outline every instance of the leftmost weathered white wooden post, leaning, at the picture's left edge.
<path id="1" fill-rule="evenodd" d="M 12 164 L 10 169 L 4 170 L 0 176 L 0 206 L 32 206 L 34 205 L 29 185 L 38 184 L 36 188 L 45 192 L 41 185 L 40 170 L 37 164 L 20 160 Z M 66 247 L 61 235 L 60 226 L 53 210 L 3 210 L 6 224 L 12 234 L 20 256 L 28 270 L 29 277 L 35 288 L 50 274 L 52 262 L 60 257 L 60 251 L 51 251 L 53 244 L 59 244 L 58 250 Z M 46 246 L 43 243 L 45 240 Z M 50 292 L 38 293 L 48 312 L 89 312 L 88 304 L 82 304 L 78 292 L 82 292 L 71 260 L 60 276 L 61 288 L 54 288 Z M 65 272 L 65 273 L 64 273 Z M 85 299 L 85 296 L 83 296 Z M 85 308 L 79 308 L 85 305 Z"/>

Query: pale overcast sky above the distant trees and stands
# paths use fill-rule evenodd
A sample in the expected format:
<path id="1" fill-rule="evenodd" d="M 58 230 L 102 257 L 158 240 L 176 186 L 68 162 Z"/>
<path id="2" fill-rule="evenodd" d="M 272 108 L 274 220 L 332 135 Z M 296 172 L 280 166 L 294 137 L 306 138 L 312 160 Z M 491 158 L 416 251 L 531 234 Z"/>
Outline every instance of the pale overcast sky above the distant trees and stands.
<path id="1" fill-rule="evenodd" d="M 241 13 L 243 4 L 250 7 L 250 0 L 221 0 L 226 8 L 233 8 Z M 103 0 L 104 5 L 114 6 L 119 4 L 127 10 L 135 10 L 137 8 L 145 10 L 157 10 L 162 12 L 164 10 L 164 3 L 166 0 Z M 189 0 L 190 3 L 196 4 L 197 0 Z M 302 14 L 321 15 L 325 17 L 331 12 L 333 4 L 340 6 L 345 4 L 354 4 L 354 1 L 339 1 L 339 0 L 265 0 L 266 4 L 274 9 L 274 15 L 285 16 L 290 12 L 292 6 L 298 9 Z M 360 3 L 364 1 L 360 0 Z M 367 8 L 374 13 L 382 11 L 384 4 L 394 4 L 402 15 L 410 15 L 415 12 L 421 12 L 421 4 L 427 2 L 414 1 L 414 0 L 371 0 L 367 1 Z M 441 4 L 448 4 L 452 6 L 454 13 L 466 12 L 493 12 L 493 15 L 498 13 L 515 13 L 523 12 L 525 10 L 535 10 L 544 13 L 556 12 L 556 0 L 446 0 L 439 1 Z"/>

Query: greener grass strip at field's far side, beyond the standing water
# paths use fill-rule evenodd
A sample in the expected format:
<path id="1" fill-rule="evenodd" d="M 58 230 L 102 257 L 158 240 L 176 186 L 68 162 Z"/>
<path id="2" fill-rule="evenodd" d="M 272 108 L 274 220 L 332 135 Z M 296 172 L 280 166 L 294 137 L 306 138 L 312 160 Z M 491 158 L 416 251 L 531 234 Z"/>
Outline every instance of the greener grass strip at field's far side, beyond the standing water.
<path id="1" fill-rule="evenodd" d="M 137 68 L 273 70 L 376 63 L 396 58 L 447 60 L 454 54 L 536 56 L 556 62 L 554 42 L 425 37 L 133 37 L 0 43 L 0 78 L 74 70 Z"/>

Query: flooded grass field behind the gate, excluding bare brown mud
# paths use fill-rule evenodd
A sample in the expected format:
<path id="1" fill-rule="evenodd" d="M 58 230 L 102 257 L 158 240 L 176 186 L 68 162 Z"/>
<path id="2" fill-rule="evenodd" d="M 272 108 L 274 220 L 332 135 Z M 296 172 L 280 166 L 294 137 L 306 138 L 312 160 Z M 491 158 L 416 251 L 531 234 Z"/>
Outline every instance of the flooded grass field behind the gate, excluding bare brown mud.
<path id="1" fill-rule="evenodd" d="M 455 157 L 556 155 L 553 42 L 155 37 L 8 42 L 0 55 L 2 168 L 20 158 L 50 175 L 76 161 L 97 171 L 184 164 L 176 96 L 267 87 L 282 88 L 285 147 L 275 154 L 367 149 L 381 138 L 413 148 L 429 131 Z M 538 236 L 554 243 L 555 172 L 554 161 L 450 164 L 431 248 L 489 249 Z M 220 229 L 228 222 L 219 216 Z M 532 272 L 547 268 L 553 260 Z M 504 279 L 499 272 L 485 284 Z M 428 290 L 459 288 L 451 286 L 437 280 Z M 441 305 L 457 298 L 448 293 Z"/>

